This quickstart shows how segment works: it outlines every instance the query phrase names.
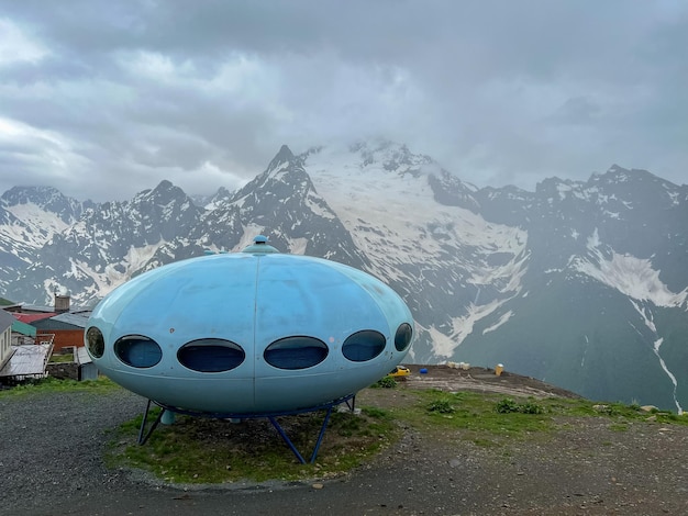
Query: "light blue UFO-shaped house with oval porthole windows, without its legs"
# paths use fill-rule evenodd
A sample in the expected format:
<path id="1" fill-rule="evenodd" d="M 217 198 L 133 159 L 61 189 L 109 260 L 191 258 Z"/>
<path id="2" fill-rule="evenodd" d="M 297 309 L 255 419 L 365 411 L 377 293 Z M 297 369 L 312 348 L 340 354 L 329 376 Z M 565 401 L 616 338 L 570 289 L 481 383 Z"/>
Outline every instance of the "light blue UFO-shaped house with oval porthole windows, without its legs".
<path id="1" fill-rule="evenodd" d="M 255 417 L 351 397 L 399 364 L 412 336 L 381 281 L 257 237 L 119 287 L 85 340 L 101 372 L 163 407 Z"/>

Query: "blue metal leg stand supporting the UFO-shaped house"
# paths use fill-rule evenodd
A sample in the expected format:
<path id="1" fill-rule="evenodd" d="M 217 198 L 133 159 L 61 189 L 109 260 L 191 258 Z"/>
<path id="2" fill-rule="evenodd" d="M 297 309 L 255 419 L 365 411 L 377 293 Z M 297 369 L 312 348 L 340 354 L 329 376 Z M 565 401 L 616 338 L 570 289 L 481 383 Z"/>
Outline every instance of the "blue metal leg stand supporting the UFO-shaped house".
<path id="1" fill-rule="evenodd" d="M 214 414 L 214 413 L 202 413 L 202 412 L 185 411 L 182 408 L 170 407 L 170 406 L 164 405 L 162 403 L 158 403 L 156 401 L 148 400 L 148 403 L 146 404 L 146 410 L 145 410 L 144 415 L 143 415 L 143 420 L 141 422 L 141 429 L 138 430 L 138 444 L 140 445 L 144 445 L 148 440 L 148 437 L 151 437 L 151 434 L 153 434 L 153 430 L 155 430 L 155 428 L 160 423 L 160 419 L 163 418 L 163 414 L 165 413 L 165 411 L 169 411 L 169 412 L 173 412 L 173 413 L 176 413 L 176 414 L 184 414 L 184 415 L 188 415 L 188 416 L 212 417 L 212 418 L 217 418 L 217 419 L 256 419 L 256 418 L 265 417 L 273 424 L 273 426 L 275 427 L 275 429 L 277 430 L 279 436 L 282 438 L 285 444 L 289 447 L 291 452 L 296 456 L 297 460 L 300 463 L 306 464 L 306 459 L 303 459 L 303 456 L 299 452 L 299 450 L 293 445 L 293 442 L 291 441 L 289 436 L 285 433 L 284 428 L 281 427 L 281 425 L 277 420 L 277 416 L 292 416 L 292 415 L 297 415 L 297 414 L 304 414 L 304 413 L 308 413 L 308 412 L 325 411 L 325 417 L 324 417 L 324 419 L 322 422 L 322 426 L 320 427 L 320 433 L 318 434 L 318 439 L 315 441 L 315 446 L 313 448 L 313 451 L 312 451 L 311 458 L 310 458 L 310 463 L 312 464 L 313 462 L 315 462 L 315 458 L 318 457 L 318 451 L 320 450 L 320 445 L 322 444 L 322 439 L 325 436 L 325 430 L 328 429 L 328 424 L 330 423 L 330 416 L 332 415 L 332 410 L 336 405 L 340 405 L 342 403 L 346 403 L 346 406 L 349 408 L 349 411 L 354 412 L 355 402 L 356 402 L 356 394 L 349 394 L 348 396 L 344 396 L 342 399 L 335 400 L 335 401 L 330 402 L 330 403 L 328 403 L 325 405 L 320 405 L 320 406 L 317 406 L 317 407 L 304 408 L 304 410 L 301 410 L 301 411 L 291 411 L 291 412 L 288 412 L 288 413 L 275 413 L 275 414 Z M 147 424 L 147 420 L 148 420 L 148 412 L 151 411 L 151 403 L 155 403 L 157 406 L 159 406 L 163 410 L 158 414 L 158 416 L 155 419 L 155 422 L 153 422 L 153 424 L 151 425 L 151 428 L 146 431 L 145 427 L 146 427 L 146 424 Z"/>

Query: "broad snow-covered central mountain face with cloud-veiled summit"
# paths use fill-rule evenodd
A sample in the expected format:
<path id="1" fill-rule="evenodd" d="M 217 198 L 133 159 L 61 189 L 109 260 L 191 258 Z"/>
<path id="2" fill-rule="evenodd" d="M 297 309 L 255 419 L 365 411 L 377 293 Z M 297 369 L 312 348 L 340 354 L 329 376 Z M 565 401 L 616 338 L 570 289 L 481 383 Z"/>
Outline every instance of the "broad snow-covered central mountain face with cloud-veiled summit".
<path id="1" fill-rule="evenodd" d="M 518 292 L 526 233 L 463 207 L 477 207 L 475 188 L 429 157 L 358 145 L 309 153 L 306 168 L 369 271 L 407 300 L 425 343 L 412 350 L 417 362 L 451 358 L 474 321 Z"/>

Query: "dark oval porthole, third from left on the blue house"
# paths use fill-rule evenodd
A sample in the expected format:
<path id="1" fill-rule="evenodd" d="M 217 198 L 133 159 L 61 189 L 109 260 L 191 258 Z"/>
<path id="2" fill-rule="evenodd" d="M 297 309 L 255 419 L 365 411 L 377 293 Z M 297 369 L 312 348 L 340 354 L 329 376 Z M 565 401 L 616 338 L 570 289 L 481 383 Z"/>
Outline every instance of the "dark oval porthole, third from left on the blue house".
<path id="1" fill-rule="evenodd" d="M 199 372 L 230 371 L 245 358 L 246 354 L 238 344 L 222 338 L 191 340 L 177 351 L 179 363 Z"/>

